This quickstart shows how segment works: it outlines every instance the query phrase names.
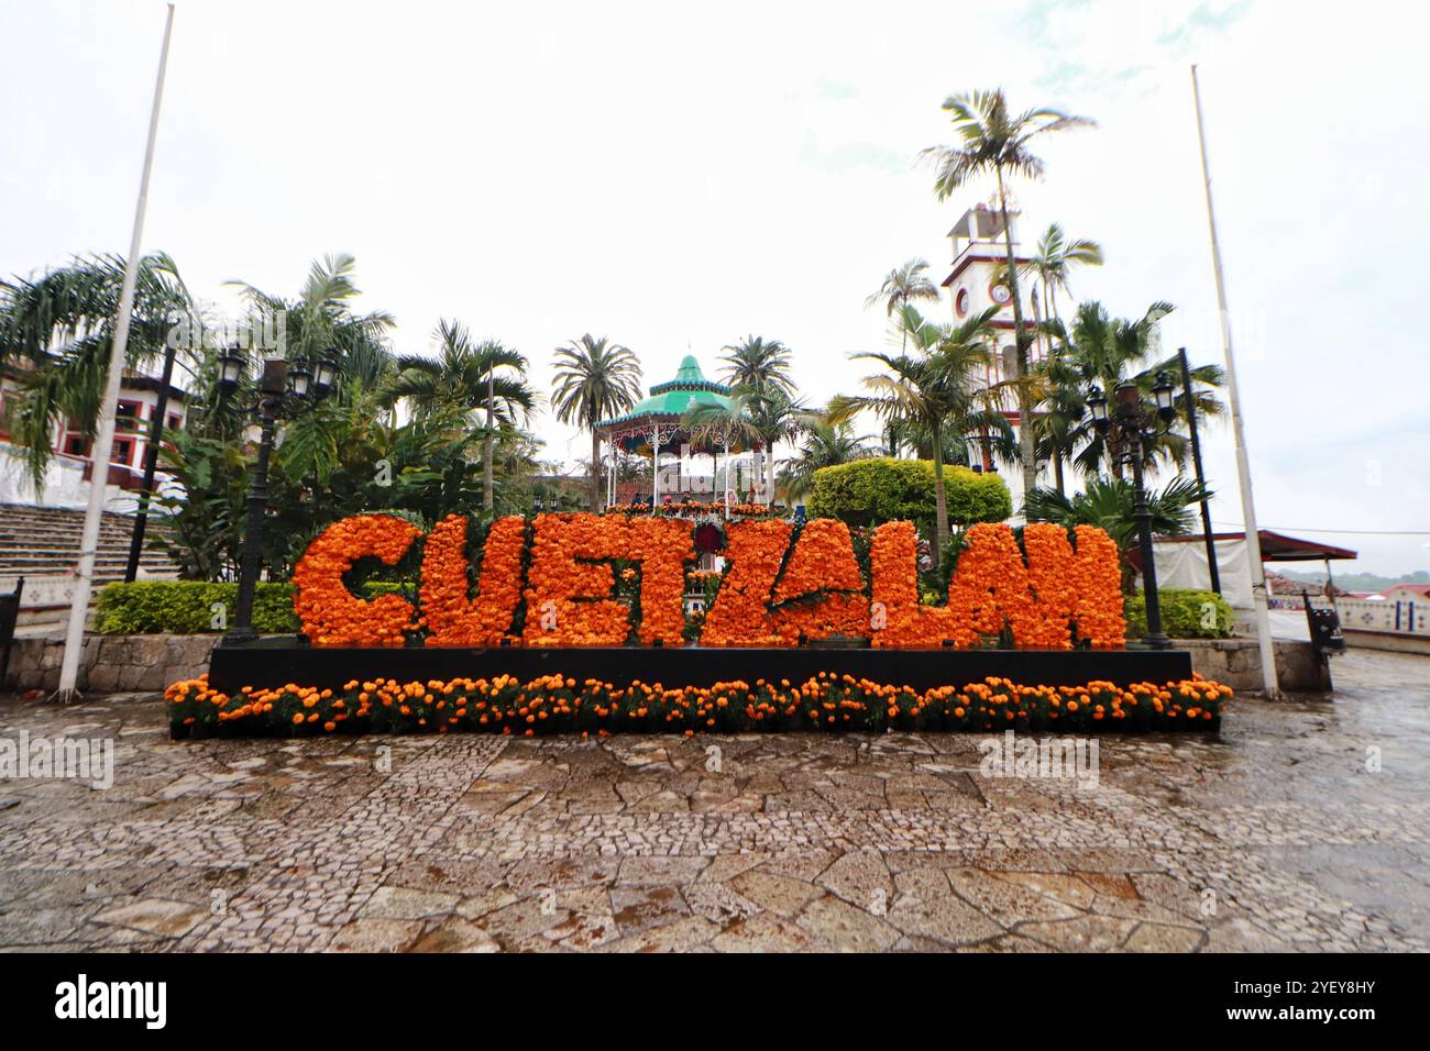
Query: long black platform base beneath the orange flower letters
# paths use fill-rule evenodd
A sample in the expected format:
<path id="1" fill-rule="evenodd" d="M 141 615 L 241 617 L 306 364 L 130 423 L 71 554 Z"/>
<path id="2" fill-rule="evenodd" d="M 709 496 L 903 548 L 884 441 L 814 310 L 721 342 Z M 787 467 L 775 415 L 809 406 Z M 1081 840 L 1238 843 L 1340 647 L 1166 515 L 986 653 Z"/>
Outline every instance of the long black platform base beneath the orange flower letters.
<path id="1" fill-rule="evenodd" d="M 515 675 L 565 675 L 618 686 L 639 679 L 662 686 L 711 686 L 744 679 L 802 682 L 811 675 L 854 675 L 925 691 L 964 686 L 990 675 L 1017 685 L 1128 686 L 1191 678 L 1184 649 L 310 649 L 272 642 L 214 646 L 209 685 L 226 694 L 285 684 L 340 689 L 352 679 L 399 682 Z"/>

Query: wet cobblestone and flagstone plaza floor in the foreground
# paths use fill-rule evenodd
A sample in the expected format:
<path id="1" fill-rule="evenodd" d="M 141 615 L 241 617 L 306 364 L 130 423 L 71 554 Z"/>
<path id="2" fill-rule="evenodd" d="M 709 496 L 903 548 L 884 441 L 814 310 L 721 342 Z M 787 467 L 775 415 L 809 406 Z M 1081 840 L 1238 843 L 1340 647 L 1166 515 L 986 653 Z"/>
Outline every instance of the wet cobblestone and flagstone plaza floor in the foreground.
<path id="1" fill-rule="evenodd" d="M 1430 658 L 1333 672 L 1104 736 L 1095 788 L 972 735 L 176 744 L 153 695 L 4 698 L 0 738 L 116 755 L 0 781 L 0 947 L 1430 948 Z"/>

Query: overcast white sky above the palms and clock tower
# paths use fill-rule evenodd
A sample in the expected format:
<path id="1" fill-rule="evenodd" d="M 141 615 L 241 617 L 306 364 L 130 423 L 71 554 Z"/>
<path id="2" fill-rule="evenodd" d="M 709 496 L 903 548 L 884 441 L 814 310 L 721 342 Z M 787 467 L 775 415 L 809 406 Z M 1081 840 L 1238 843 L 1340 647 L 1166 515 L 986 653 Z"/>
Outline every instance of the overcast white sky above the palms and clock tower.
<path id="1" fill-rule="evenodd" d="M 163 16 L 0 3 L 0 273 L 126 250 Z M 862 307 L 881 276 L 947 275 L 944 235 L 987 190 L 937 203 L 917 154 L 950 137 L 945 96 L 1002 84 L 1100 123 L 1017 187 L 1032 232 L 1104 245 L 1075 296 L 1171 300 L 1167 346 L 1218 360 L 1197 61 L 1261 525 L 1399 573 L 1430 568 L 1430 535 L 1317 529 L 1430 531 L 1426 29 L 1413 6 L 1288 0 L 180 0 L 144 249 L 220 305 L 227 279 L 292 295 L 352 252 L 399 350 L 458 317 L 543 389 L 582 332 L 648 383 L 755 332 L 822 402 L 887 342 Z M 539 429 L 553 458 L 588 448 Z M 1207 466 L 1236 528 L 1228 426 Z"/>

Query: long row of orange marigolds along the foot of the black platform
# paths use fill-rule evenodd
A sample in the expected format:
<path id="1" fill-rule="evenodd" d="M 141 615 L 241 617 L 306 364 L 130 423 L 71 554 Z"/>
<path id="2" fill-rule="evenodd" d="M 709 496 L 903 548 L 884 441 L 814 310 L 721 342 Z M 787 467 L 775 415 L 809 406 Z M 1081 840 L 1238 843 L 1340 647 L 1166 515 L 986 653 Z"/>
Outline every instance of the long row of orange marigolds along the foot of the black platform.
<path id="1" fill-rule="evenodd" d="M 1231 688 L 1180 682 L 1022 686 L 990 676 L 915 691 L 821 672 L 804 682 L 721 682 L 664 689 L 548 675 L 445 682 L 352 681 L 340 691 L 289 684 L 227 695 L 207 676 L 164 691 L 174 738 L 446 734 L 522 736 L 759 731 L 1214 731 Z"/>

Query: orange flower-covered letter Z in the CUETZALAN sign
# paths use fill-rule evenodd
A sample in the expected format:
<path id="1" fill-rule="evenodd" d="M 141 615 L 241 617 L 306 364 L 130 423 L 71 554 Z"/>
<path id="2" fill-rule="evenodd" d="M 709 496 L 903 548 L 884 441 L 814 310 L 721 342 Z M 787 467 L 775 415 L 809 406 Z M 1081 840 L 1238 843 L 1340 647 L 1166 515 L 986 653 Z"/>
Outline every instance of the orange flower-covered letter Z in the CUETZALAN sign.
<path id="1" fill-rule="evenodd" d="M 768 605 L 789 546 L 788 522 L 746 520 L 725 531 L 729 571 L 705 615 L 701 645 L 778 646 Z"/>

